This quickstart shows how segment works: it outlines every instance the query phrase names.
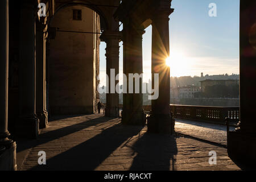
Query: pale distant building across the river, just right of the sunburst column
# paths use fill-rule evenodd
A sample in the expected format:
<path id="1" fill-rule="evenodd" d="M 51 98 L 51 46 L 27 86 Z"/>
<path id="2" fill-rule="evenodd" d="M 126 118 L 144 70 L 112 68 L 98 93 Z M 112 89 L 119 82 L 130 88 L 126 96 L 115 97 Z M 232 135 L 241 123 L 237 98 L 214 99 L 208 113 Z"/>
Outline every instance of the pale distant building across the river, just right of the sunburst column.
<path id="1" fill-rule="evenodd" d="M 171 100 L 195 98 L 195 93 L 197 92 L 200 92 L 200 87 L 198 86 L 175 86 L 171 88 Z"/>

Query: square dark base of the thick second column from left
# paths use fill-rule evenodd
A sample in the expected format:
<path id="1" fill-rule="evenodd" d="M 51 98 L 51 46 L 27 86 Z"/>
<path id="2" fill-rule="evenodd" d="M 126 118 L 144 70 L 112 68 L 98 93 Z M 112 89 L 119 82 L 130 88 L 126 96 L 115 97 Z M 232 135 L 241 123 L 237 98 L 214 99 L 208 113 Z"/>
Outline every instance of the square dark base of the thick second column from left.
<path id="1" fill-rule="evenodd" d="M 19 121 L 16 122 L 15 129 L 15 134 L 18 137 L 36 139 L 40 134 L 39 119 L 37 117 L 20 118 Z"/>

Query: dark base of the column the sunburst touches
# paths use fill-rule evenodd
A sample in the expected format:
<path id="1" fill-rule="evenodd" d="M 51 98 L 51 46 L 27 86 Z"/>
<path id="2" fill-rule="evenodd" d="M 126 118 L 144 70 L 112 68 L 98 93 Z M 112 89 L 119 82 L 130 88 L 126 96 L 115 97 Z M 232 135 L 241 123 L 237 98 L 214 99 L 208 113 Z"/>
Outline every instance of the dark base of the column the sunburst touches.
<path id="1" fill-rule="evenodd" d="M 150 114 L 147 118 L 147 132 L 157 134 L 174 134 L 174 119 L 171 114 Z"/>

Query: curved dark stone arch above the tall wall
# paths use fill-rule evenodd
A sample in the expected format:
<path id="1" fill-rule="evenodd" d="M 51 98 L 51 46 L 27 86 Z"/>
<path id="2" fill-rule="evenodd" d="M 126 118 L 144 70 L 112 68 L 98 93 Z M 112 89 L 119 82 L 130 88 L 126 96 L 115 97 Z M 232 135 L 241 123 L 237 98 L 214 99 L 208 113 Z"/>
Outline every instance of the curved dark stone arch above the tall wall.
<path id="1" fill-rule="evenodd" d="M 69 7 L 69 6 L 85 6 L 85 7 L 88 7 L 89 9 L 95 11 L 98 15 L 100 15 L 100 21 L 101 21 L 101 30 L 108 30 L 109 28 L 109 23 L 108 23 L 108 20 L 106 19 L 106 16 L 105 14 L 95 5 L 93 5 L 92 3 L 88 2 L 88 1 L 68 1 L 68 2 L 65 2 L 63 3 L 63 5 L 60 5 L 58 7 L 56 7 L 56 10 L 55 10 L 55 14 L 57 14 L 59 11 L 65 9 L 66 7 Z M 51 18 L 49 19 L 49 25 L 51 24 L 54 16 L 51 16 Z"/>

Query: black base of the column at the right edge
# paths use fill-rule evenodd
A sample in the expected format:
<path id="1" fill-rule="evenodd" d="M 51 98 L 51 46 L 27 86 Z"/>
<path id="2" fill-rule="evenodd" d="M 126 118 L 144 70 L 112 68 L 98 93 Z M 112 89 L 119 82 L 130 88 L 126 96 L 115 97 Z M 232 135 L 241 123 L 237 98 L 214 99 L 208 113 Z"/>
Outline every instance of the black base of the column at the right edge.
<path id="1" fill-rule="evenodd" d="M 241 131 L 228 132 L 228 154 L 238 164 L 255 168 L 256 135 Z"/>

